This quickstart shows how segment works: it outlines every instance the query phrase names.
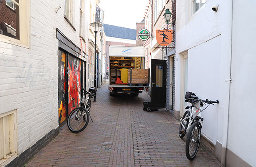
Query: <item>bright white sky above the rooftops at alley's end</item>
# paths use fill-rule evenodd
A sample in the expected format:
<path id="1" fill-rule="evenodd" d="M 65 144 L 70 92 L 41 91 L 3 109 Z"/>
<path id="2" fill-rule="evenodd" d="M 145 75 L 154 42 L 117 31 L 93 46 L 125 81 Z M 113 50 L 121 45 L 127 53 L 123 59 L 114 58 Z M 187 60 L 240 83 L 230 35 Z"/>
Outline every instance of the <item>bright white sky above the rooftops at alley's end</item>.
<path id="1" fill-rule="evenodd" d="M 104 24 L 136 29 L 146 11 L 149 0 L 100 0 L 98 6 L 104 11 Z"/>

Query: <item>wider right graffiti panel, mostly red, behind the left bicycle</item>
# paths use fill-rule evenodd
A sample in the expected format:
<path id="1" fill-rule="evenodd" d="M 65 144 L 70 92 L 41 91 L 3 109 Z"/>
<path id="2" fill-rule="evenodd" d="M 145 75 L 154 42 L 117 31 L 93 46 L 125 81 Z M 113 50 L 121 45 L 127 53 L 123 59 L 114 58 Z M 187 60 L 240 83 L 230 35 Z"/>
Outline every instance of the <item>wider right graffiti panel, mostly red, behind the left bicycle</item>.
<path id="1" fill-rule="evenodd" d="M 81 101 L 81 61 L 69 56 L 68 69 L 68 114 L 70 114 Z"/>

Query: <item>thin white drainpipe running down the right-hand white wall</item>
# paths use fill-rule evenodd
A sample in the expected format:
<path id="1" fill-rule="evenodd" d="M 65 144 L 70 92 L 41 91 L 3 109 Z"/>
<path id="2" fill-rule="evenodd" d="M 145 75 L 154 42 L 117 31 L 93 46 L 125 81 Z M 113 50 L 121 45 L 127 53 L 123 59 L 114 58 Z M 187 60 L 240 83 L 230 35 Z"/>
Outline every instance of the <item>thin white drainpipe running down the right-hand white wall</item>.
<path id="1" fill-rule="evenodd" d="M 229 109 L 230 109 L 230 88 L 231 88 L 231 82 L 232 82 L 232 23 L 233 23 L 233 0 L 230 0 L 230 6 L 231 11 L 229 12 L 229 17 L 231 20 L 229 21 L 229 26 L 231 29 L 230 32 L 230 40 L 228 41 L 230 43 L 230 74 L 229 79 L 226 80 L 226 82 L 229 82 L 229 94 L 228 94 L 228 111 L 227 113 L 224 113 L 224 126 L 223 126 L 223 144 L 222 144 L 222 150 L 221 150 L 221 167 L 226 166 L 226 158 L 227 158 L 227 144 L 228 144 L 228 122 L 229 122 Z"/>

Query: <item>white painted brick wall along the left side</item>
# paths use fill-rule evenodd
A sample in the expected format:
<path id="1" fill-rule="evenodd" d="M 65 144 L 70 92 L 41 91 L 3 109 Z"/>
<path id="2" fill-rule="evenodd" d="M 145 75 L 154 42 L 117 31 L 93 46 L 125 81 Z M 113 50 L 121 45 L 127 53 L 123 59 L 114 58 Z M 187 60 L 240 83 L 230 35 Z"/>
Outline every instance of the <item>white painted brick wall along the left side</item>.
<path id="1" fill-rule="evenodd" d="M 76 31 L 63 17 L 64 0 L 31 0 L 31 48 L 0 42 L 0 113 L 17 109 L 18 153 L 59 126 L 56 28 L 80 46 L 80 2 L 73 2 Z"/>

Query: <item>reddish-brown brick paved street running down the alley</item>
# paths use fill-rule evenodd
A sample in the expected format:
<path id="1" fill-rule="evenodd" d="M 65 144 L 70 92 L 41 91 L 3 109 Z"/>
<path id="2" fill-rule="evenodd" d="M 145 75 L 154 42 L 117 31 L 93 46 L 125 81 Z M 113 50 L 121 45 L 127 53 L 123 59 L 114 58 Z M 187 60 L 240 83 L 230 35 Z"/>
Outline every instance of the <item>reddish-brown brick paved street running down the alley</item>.
<path id="1" fill-rule="evenodd" d="M 146 112 L 138 97 L 110 97 L 107 84 L 98 89 L 87 128 L 78 134 L 64 125 L 60 133 L 26 167 L 219 167 L 205 148 L 189 161 L 178 121 L 164 111 Z M 208 152 L 208 153 L 207 153 Z"/>

